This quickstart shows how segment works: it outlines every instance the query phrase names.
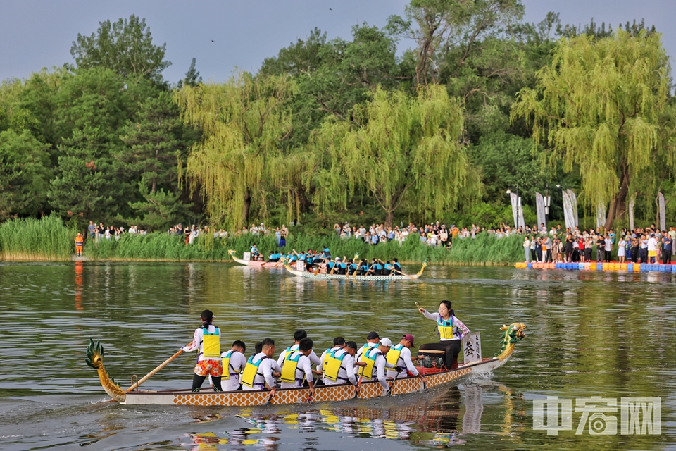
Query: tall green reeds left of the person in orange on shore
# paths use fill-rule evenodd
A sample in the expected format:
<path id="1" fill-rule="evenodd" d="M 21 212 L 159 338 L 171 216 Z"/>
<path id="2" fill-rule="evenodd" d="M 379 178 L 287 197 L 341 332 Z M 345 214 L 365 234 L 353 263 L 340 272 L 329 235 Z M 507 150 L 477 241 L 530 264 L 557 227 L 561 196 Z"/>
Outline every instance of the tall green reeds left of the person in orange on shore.
<path id="1" fill-rule="evenodd" d="M 75 235 L 56 216 L 6 221 L 0 224 L 0 259 L 67 261 L 75 252 Z"/>

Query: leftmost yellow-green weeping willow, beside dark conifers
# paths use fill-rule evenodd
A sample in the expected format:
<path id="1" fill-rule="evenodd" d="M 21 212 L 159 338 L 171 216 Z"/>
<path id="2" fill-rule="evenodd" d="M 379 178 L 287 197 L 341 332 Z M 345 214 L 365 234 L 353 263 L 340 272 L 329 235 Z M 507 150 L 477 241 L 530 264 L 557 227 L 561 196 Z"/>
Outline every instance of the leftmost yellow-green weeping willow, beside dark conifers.
<path id="1" fill-rule="evenodd" d="M 294 89 L 284 77 L 243 73 L 176 92 L 184 121 L 202 132 L 180 161 L 180 174 L 201 191 L 212 223 L 242 227 L 252 204 L 265 217 L 270 192 L 288 189 L 287 175 L 293 178 L 297 170 L 280 145 L 292 132 L 288 101 Z"/>

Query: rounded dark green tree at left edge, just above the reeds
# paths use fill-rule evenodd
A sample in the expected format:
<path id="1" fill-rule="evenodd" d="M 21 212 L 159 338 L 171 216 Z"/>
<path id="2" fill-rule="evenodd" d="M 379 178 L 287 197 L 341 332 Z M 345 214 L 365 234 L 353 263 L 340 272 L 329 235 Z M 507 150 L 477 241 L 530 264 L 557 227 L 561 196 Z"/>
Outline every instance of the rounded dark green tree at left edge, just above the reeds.
<path id="1" fill-rule="evenodd" d="M 28 130 L 0 132 L 0 221 L 43 212 L 50 175 L 49 145 Z"/>

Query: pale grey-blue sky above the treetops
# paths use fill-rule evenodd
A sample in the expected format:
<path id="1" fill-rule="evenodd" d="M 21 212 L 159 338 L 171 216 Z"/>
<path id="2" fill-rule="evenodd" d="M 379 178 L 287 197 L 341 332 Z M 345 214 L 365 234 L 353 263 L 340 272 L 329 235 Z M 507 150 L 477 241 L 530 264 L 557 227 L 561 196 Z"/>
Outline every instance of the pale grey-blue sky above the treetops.
<path id="1" fill-rule="evenodd" d="M 522 0 L 525 20 L 537 23 L 548 11 L 564 25 L 594 18 L 616 27 L 646 20 L 663 33 L 667 53 L 676 56 L 675 0 Z M 204 80 L 221 82 L 239 70 L 256 72 L 263 59 L 304 39 L 314 27 L 327 37 L 350 39 L 351 27 L 382 27 L 392 14 L 403 16 L 408 0 L 0 0 L 0 80 L 27 78 L 41 68 L 73 63 L 70 47 L 77 34 L 91 35 L 99 22 L 146 19 L 154 44 L 166 43 L 172 62 L 163 75 L 175 83 L 192 58 Z M 214 42 L 211 42 L 211 41 Z M 401 46 L 412 46 L 410 41 Z"/>

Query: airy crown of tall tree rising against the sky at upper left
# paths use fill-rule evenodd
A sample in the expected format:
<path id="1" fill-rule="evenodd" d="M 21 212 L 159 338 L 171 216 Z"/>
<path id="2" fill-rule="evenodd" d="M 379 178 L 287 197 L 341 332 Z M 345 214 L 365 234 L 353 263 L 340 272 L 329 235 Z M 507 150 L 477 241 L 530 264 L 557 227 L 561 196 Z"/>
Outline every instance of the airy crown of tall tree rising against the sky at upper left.
<path id="1" fill-rule="evenodd" d="M 106 68 L 123 78 L 144 77 L 161 83 L 162 71 L 171 65 L 164 61 L 165 50 L 166 43 L 153 44 L 146 20 L 132 14 L 129 20 L 99 22 L 91 36 L 78 33 L 70 54 L 77 68 Z"/>

